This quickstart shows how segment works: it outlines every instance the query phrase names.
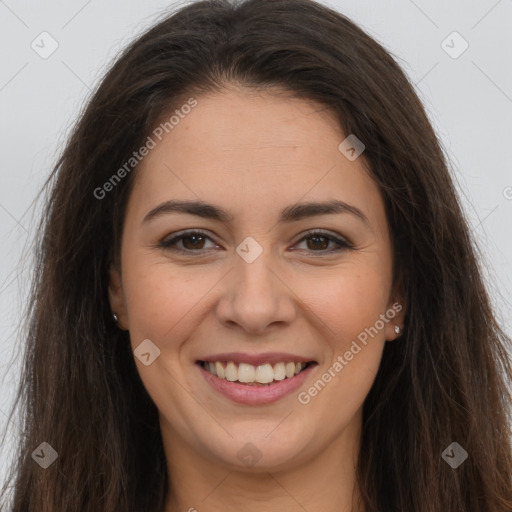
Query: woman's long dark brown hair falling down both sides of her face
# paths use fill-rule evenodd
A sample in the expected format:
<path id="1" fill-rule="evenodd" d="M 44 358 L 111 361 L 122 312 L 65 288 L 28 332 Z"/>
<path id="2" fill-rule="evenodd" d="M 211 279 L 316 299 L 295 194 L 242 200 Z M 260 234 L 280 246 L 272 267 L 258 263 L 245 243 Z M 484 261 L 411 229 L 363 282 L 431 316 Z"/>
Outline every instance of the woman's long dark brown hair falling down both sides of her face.
<path id="1" fill-rule="evenodd" d="M 363 141 L 383 192 L 407 315 L 364 403 L 357 476 L 367 511 L 512 511 L 511 340 L 447 158 L 395 58 L 309 0 L 181 7 L 126 48 L 88 102 L 46 187 L 10 510 L 163 510 L 158 411 L 107 294 L 137 168 L 106 197 L 94 191 L 163 113 L 229 83 L 325 105 Z M 32 458 L 43 442 L 58 453 L 47 469 Z M 442 457 L 453 442 L 468 453 L 457 469 Z"/>

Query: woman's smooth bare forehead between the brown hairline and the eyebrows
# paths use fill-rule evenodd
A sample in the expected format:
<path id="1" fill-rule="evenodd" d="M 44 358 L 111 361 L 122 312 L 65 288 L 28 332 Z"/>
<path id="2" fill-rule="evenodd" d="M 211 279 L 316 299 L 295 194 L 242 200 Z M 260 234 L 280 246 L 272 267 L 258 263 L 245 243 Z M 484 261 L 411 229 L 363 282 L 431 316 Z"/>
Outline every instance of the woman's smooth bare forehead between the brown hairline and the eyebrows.
<path id="1" fill-rule="evenodd" d="M 161 140 L 153 137 L 134 188 L 141 207 L 201 198 L 237 215 L 301 199 L 341 199 L 378 210 L 376 184 L 362 158 L 350 161 L 338 149 L 345 135 L 325 106 L 237 88 L 196 101 Z"/>

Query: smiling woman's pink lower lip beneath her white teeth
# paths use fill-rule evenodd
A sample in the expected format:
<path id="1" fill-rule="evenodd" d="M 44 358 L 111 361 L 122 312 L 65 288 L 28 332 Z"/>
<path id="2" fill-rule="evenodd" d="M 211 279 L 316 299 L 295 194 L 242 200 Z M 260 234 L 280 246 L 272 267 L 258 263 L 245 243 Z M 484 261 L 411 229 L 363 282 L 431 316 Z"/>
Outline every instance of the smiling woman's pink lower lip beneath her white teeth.
<path id="1" fill-rule="evenodd" d="M 236 382 L 230 382 L 226 379 L 221 379 L 208 370 L 205 370 L 201 364 L 196 364 L 201 371 L 201 374 L 206 379 L 210 386 L 218 391 L 225 397 L 246 405 L 261 405 L 276 402 L 290 393 L 298 389 L 304 381 L 308 378 L 310 373 L 317 366 L 312 364 L 305 370 L 302 370 L 298 375 L 291 378 L 284 378 L 270 386 L 247 386 Z"/>

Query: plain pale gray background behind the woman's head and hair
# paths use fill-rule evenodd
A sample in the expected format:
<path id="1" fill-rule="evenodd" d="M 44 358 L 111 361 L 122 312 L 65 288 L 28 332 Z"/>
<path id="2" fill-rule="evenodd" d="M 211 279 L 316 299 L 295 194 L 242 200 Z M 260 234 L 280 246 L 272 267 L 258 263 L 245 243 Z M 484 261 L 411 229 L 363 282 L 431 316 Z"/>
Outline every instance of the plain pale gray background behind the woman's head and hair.
<path id="1" fill-rule="evenodd" d="M 322 3 L 366 29 L 415 83 L 482 247 L 498 320 L 511 334 L 512 0 Z M 39 208 L 33 200 L 108 63 L 170 5 L 0 0 L 0 428 L 7 424 L 20 371 L 18 326 Z M 31 47 L 51 49 L 48 36 L 40 36 L 44 31 L 58 43 L 47 58 Z M 450 35 L 454 31 L 469 45 L 460 55 L 465 43 Z M 2 482 L 14 456 L 11 438 L 0 453 Z"/>

